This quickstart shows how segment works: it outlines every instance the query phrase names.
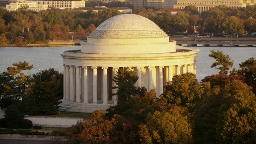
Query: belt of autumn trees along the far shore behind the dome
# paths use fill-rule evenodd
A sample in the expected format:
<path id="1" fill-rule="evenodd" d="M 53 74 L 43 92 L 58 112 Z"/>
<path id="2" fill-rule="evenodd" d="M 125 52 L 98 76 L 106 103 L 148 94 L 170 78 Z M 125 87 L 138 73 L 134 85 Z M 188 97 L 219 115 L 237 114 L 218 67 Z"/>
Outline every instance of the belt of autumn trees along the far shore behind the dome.
<path id="1" fill-rule="evenodd" d="M 98 13 L 82 9 L 60 10 L 51 8 L 34 12 L 23 6 L 16 11 L 8 12 L 0 8 L 0 45 L 46 43 L 47 40 L 85 39 L 92 30 L 106 19 L 121 14 L 111 7 L 131 7 L 125 2 L 90 1 L 88 7 L 107 6 Z M 133 14 L 149 18 L 168 34 L 179 34 L 187 31 L 193 33 L 194 27 L 199 33 L 238 34 L 246 31 L 248 36 L 256 32 L 256 7 L 228 8 L 216 6 L 206 12 L 199 13 L 196 6 L 186 6 L 185 12 L 173 15 L 171 12 L 156 13 L 151 8 L 136 8 Z"/>

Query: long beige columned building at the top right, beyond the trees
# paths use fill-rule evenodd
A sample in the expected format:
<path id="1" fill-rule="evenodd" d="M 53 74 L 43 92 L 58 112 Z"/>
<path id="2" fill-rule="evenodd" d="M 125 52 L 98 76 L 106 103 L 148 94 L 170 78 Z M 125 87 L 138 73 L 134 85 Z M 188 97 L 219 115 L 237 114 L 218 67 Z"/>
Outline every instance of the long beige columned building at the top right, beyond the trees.
<path id="1" fill-rule="evenodd" d="M 230 8 L 256 6 L 256 0 L 177 0 L 174 8 L 184 9 L 185 6 L 194 5 L 199 12 L 204 12 L 215 6 L 224 5 Z"/>

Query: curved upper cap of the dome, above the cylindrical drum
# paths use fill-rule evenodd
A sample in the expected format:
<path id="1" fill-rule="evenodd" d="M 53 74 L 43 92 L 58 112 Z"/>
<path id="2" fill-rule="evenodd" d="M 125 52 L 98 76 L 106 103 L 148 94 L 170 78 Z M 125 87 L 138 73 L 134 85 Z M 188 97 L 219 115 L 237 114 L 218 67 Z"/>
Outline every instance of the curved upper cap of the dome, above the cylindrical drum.
<path id="1" fill-rule="evenodd" d="M 154 22 L 136 14 L 120 14 L 104 21 L 88 38 L 168 37 Z"/>

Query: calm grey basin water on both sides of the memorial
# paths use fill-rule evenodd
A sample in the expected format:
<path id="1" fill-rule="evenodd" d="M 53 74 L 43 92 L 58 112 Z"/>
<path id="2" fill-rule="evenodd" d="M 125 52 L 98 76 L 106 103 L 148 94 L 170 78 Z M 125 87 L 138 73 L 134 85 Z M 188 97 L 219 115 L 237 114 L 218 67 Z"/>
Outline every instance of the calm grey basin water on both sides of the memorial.
<path id="1" fill-rule="evenodd" d="M 239 64 L 251 57 L 256 58 L 256 47 L 189 47 L 199 49 L 200 53 L 196 56 L 197 79 L 200 81 L 205 76 L 217 74 L 219 70 L 210 68 L 215 61 L 210 58 L 210 50 L 220 50 L 225 54 L 229 54 L 234 60 L 233 68 L 239 69 Z M 26 71 L 25 74 L 36 74 L 38 70 L 54 68 L 63 72 L 62 54 L 66 50 L 77 50 L 80 46 L 61 46 L 61 47 L 0 47 L 0 73 L 7 70 L 8 66 L 12 66 L 14 62 L 27 61 L 33 64 L 32 70 Z"/>

